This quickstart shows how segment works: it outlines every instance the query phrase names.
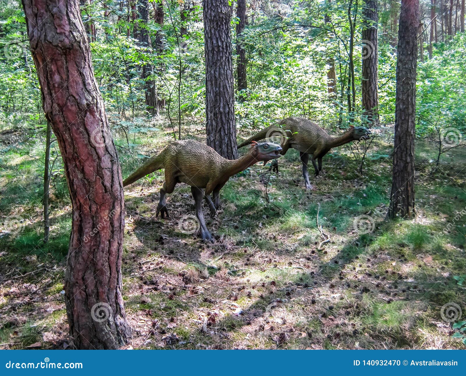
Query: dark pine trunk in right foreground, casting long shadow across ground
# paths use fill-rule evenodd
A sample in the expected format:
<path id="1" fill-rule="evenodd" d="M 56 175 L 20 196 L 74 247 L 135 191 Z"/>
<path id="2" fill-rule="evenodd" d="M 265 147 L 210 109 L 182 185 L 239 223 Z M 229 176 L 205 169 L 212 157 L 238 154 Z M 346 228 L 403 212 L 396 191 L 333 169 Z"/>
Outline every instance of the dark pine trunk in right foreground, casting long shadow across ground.
<path id="1" fill-rule="evenodd" d="M 393 180 L 388 216 L 414 216 L 414 136 L 419 0 L 402 0 L 397 48 Z"/>

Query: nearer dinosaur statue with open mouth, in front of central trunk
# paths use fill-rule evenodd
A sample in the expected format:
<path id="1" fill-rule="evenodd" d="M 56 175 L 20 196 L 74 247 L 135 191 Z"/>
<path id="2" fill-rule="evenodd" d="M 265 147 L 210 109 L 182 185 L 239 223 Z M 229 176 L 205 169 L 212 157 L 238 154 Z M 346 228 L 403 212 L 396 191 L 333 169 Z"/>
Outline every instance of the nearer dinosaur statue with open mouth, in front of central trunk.
<path id="1" fill-rule="evenodd" d="M 151 157 L 144 165 L 123 181 L 123 187 L 137 181 L 151 172 L 165 169 L 165 182 L 160 189 L 156 216 L 168 216 L 165 195 L 173 192 L 177 183 L 191 186 L 196 202 L 196 216 L 199 220 L 200 235 L 203 240 L 213 241 L 207 230 L 202 212 L 202 197 L 206 199 L 211 216 L 215 216 L 220 206 L 219 191 L 226 181 L 259 161 L 266 162 L 281 157 L 281 146 L 271 142 L 253 142 L 251 149 L 237 160 L 223 158 L 212 147 L 194 140 L 174 141 L 160 153 Z M 213 193 L 213 201 L 211 198 Z"/>

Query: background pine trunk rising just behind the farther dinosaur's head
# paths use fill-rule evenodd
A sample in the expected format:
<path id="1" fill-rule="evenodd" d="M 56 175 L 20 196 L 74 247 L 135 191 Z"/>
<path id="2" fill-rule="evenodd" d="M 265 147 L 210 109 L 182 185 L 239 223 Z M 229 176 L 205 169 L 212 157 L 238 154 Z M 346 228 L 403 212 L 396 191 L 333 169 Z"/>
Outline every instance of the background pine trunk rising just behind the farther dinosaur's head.
<path id="1" fill-rule="evenodd" d="M 377 92 L 377 0 L 365 0 L 363 7 L 362 31 L 362 102 L 363 116 L 374 126 L 379 124 Z"/>

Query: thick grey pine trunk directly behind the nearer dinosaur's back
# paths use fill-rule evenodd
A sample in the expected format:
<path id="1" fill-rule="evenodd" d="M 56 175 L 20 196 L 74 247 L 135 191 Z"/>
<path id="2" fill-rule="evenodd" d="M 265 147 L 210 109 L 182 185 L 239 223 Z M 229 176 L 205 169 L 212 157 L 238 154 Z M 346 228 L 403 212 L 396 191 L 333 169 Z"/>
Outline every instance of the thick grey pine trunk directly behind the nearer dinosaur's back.
<path id="1" fill-rule="evenodd" d="M 203 0 L 207 145 L 235 159 L 233 63 L 228 0 Z"/>

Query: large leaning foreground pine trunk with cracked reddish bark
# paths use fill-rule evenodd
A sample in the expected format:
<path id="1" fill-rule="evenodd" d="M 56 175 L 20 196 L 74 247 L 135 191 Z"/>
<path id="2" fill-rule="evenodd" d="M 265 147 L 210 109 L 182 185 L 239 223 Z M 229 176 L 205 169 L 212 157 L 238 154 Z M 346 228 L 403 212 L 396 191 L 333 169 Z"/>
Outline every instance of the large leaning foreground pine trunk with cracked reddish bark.
<path id="1" fill-rule="evenodd" d="M 22 3 L 43 109 L 57 137 L 73 208 L 65 273 L 73 346 L 115 349 L 131 338 L 122 296 L 123 183 L 79 1 Z"/>

